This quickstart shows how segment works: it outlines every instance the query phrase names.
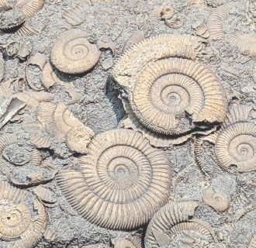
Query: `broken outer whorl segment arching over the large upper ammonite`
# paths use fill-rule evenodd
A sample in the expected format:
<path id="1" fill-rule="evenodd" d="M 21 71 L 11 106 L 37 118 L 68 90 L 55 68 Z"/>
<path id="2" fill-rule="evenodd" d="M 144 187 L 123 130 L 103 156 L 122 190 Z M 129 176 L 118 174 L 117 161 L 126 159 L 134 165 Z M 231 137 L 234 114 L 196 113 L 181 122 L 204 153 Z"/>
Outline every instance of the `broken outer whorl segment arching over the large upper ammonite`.
<path id="1" fill-rule="evenodd" d="M 200 49 L 202 49 L 201 39 L 195 36 L 155 36 L 127 49 L 116 61 L 112 77 L 118 84 L 127 87 L 134 84 L 140 77 L 140 72 L 152 62 L 168 57 L 195 60 L 199 56 Z"/>

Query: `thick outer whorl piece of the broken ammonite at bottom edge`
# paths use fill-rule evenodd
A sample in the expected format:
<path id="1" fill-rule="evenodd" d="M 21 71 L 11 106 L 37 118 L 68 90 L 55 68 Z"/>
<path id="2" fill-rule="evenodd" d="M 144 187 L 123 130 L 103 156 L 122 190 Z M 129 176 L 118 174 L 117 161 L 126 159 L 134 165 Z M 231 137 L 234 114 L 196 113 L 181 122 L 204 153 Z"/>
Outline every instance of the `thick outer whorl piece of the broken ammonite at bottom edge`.
<path id="1" fill-rule="evenodd" d="M 164 232 L 173 228 L 178 223 L 188 221 L 194 215 L 197 206 L 195 202 L 168 202 L 160 208 L 150 219 L 150 223 L 147 226 L 144 239 L 145 248 L 159 247 L 154 232 Z"/>

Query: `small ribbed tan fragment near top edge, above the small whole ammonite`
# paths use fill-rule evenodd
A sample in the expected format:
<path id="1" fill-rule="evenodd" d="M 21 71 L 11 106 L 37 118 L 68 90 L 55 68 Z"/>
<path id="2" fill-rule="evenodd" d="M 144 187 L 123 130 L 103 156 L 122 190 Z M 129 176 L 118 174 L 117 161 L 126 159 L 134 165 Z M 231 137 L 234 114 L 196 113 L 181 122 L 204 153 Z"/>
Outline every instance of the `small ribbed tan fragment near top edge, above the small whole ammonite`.
<path id="1" fill-rule="evenodd" d="M 64 19 L 72 26 L 78 26 L 82 22 L 85 22 L 85 6 L 80 2 L 71 9 L 67 9 L 63 13 Z"/>

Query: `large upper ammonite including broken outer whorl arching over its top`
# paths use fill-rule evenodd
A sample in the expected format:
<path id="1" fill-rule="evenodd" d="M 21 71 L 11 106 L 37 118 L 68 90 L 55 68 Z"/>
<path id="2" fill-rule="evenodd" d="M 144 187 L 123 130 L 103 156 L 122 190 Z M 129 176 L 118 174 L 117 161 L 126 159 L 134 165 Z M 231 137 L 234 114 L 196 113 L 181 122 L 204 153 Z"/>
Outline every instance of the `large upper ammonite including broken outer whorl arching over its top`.
<path id="1" fill-rule="evenodd" d="M 199 40 L 194 37 L 159 36 L 123 54 L 112 74 L 126 87 L 131 120 L 135 115 L 144 129 L 168 136 L 223 121 L 225 91 L 213 71 L 194 60 L 197 47 Z"/>

